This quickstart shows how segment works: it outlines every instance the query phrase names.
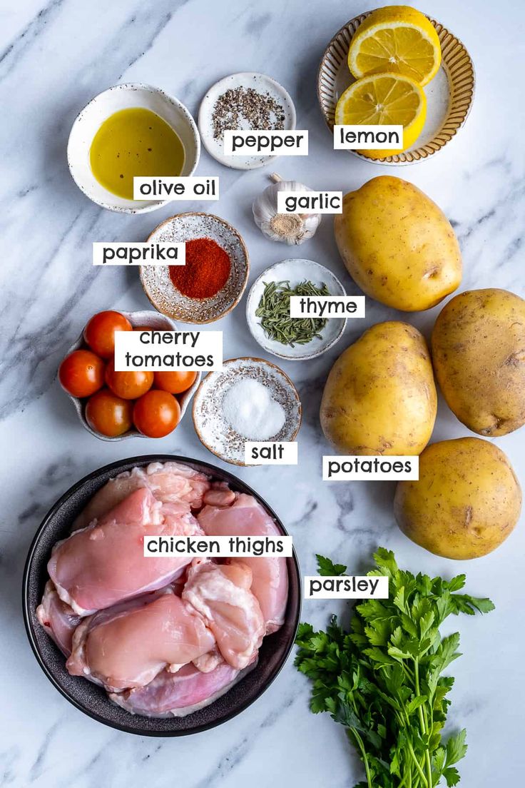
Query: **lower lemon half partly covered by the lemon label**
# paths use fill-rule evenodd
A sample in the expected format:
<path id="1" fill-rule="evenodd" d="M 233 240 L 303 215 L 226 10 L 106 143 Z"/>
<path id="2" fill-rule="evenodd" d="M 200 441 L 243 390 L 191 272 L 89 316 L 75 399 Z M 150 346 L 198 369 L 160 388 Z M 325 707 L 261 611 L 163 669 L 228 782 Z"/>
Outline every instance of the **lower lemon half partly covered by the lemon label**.
<path id="1" fill-rule="evenodd" d="M 369 158 L 386 158 L 406 151 L 420 136 L 427 117 L 423 88 L 408 76 L 372 74 L 346 88 L 335 107 L 341 125 L 401 125 L 403 147 L 396 150 L 360 151 Z"/>

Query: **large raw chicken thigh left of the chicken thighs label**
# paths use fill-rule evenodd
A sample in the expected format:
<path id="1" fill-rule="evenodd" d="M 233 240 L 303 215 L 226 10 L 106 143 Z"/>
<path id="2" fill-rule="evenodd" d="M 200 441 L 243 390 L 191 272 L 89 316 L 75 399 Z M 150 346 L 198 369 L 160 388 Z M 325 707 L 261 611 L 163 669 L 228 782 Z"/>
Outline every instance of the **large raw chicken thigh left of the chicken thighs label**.
<path id="1" fill-rule="evenodd" d="M 47 565 L 58 596 L 78 615 L 109 608 L 122 600 L 171 582 L 190 559 L 145 558 L 146 535 L 201 534 L 179 504 L 161 504 L 149 489 L 132 492 L 93 525 L 58 542 Z"/>

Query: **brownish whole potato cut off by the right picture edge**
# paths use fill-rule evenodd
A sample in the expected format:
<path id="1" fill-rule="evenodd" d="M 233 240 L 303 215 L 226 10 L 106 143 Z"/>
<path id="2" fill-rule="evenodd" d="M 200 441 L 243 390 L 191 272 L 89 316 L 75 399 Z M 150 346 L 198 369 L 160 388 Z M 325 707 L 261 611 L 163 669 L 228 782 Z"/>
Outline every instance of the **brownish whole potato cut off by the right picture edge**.
<path id="1" fill-rule="evenodd" d="M 432 332 L 434 371 L 453 414 L 493 437 L 525 423 L 525 301 L 497 288 L 460 293 Z"/>

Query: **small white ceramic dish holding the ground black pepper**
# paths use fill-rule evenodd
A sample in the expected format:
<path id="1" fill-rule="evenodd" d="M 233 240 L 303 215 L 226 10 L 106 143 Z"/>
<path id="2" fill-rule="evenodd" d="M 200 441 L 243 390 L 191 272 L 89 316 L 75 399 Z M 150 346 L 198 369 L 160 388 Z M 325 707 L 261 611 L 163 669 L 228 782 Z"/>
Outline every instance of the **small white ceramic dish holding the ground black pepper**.
<path id="1" fill-rule="evenodd" d="M 225 76 L 223 80 L 219 80 L 206 93 L 202 99 L 201 106 L 198 112 L 198 128 L 201 132 L 202 143 L 213 158 L 220 164 L 233 169 L 256 169 L 263 167 L 268 162 L 272 161 L 275 156 L 227 156 L 224 153 L 224 141 L 216 139 L 213 136 L 213 110 L 216 100 L 220 98 L 228 90 L 235 90 L 236 87 L 250 88 L 253 87 L 259 93 L 269 95 L 271 98 L 283 108 L 283 128 L 295 128 L 297 121 L 294 102 L 290 94 L 286 91 L 283 85 L 279 84 L 272 79 L 271 76 L 265 74 L 258 74 L 253 71 L 242 71 L 238 74 L 231 74 Z M 243 119 L 238 124 L 239 128 L 248 129 L 250 126 Z"/>

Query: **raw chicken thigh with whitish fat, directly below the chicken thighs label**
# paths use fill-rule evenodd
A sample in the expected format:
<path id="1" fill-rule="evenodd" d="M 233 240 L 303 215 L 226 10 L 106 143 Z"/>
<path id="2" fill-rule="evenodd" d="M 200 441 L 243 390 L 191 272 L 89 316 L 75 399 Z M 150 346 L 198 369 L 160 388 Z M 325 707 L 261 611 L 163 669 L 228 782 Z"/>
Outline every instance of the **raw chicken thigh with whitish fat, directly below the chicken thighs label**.
<path id="1" fill-rule="evenodd" d="M 251 584 L 252 572 L 246 564 L 195 559 L 183 590 L 183 600 L 201 613 L 224 660 L 238 670 L 257 658 L 264 637 L 264 618 Z"/>

